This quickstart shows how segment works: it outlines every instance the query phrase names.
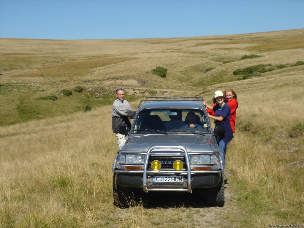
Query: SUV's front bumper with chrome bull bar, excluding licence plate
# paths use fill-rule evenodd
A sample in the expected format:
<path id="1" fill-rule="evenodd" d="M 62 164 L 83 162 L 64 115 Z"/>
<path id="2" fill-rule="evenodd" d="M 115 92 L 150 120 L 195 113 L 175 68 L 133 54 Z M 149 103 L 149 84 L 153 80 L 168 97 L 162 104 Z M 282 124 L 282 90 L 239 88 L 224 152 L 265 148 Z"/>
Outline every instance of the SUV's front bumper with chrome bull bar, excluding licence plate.
<path id="1" fill-rule="evenodd" d="M 149 170 L 148 160 L 150 155 L 157 155 L 161 150 L 178 150 L 185 157 L 186 170 Z M 116 167 L 117 155 L 113 164 L 112 171 L 116 173 L 117 182 L 124 187 L 143 188 L 148 191 L 183 191 L 192 192 L 193 188 L 211 188 L 219 184 L 220 174 L 223 172 L 222 157 L 219 156 L 220 169 L 211 171 L 194 171 L 188 157 L 188 152 L 184 147 L 151 147 L 145 156 L 143 170 L 129 171 L 119 170 Z M 192 168 L 193 169 L 193 168 Z M 182 183 L 153 183 L 153 176 L 182 176 Z"/>

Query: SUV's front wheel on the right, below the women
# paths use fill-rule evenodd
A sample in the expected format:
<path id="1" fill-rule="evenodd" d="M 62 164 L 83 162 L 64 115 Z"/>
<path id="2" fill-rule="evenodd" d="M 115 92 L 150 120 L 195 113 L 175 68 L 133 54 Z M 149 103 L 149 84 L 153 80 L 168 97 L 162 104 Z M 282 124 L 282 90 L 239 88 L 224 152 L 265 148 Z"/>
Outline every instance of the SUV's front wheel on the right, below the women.
<path id="1" fill-rule="evenodd" d="M 208 188 L 206 202 L 210 206 L 223 207 L 225 203 L 225 194 L 224 194 L 224 174 L 221 173 L 221 179 L 219 185 L 214 188 Z"/>

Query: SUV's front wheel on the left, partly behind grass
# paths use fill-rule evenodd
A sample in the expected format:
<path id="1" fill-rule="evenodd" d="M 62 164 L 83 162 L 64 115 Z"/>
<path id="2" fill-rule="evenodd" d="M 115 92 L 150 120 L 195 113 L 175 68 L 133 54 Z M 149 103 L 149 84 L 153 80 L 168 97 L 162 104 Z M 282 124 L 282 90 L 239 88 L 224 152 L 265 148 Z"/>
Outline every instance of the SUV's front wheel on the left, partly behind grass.
<path id="1" fill-rule="evenodd" d="M 123 187 L 117 183 L 116 173 L 113 175 L 113 204 L 119 208 L 128 208 L 134 204 L 133 188 Z"/>

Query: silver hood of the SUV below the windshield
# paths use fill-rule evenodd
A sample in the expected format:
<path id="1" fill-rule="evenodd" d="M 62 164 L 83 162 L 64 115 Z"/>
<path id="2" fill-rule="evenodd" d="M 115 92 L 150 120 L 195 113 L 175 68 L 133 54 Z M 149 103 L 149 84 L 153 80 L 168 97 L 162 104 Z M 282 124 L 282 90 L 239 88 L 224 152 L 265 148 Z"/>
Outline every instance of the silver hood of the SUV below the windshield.
<path id="1" fill-rule="evenodd" d="M 188 151 L 215 151 L 218 150 L 216 140 L 211 135 L 199 134 L 151 134 L 131 135 L 121 150 L 147 151 L 150 147 L 184 147 Z"/>

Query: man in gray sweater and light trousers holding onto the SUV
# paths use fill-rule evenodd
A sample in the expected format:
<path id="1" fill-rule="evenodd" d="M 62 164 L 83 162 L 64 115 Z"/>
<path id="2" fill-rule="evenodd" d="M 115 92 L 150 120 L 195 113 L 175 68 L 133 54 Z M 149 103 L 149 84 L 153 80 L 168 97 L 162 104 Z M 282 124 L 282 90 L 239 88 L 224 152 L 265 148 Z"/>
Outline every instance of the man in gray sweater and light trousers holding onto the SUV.
<path id="1" fill-rule="evenodd" d="M 120 150 L 125 144 L 127 136 L 119 134 L 119 127 L 127 126 L 130 130 L 130 117 L 134 118 L 136 111 L 132 111 L 129 102 L 124 100 L 125 94 L 122 88 L 116 90 L 115 96 L 116 99 L 112 106 L 112 130 L 116 133 L 118 149 Z"/>

